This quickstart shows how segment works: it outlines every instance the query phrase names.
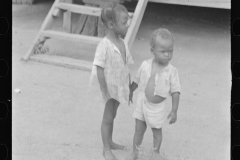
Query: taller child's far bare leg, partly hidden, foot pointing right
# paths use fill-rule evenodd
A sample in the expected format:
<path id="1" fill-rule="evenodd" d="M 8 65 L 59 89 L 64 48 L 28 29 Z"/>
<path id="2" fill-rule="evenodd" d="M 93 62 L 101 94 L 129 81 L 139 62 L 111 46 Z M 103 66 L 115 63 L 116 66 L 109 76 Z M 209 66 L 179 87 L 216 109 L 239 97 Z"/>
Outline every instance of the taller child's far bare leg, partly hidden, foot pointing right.
<path id="1" fill-rule="evenodd" d="M 111 128 L 110 128 L 109 144 L 110 144 L 111 149 L 124 150 L 124 149 L 126 149 L 125 146 L 114 143 L 113 139 L 112 139 L 114 119 L 116 118 L 116 115 L 117 115 L 118 106 L 119 106 L 119 102 L 114 100 L 114 107 L 113 107 L 113 116 L 114 117 L 113 117 L 113 123 L 112 123 Z"/>

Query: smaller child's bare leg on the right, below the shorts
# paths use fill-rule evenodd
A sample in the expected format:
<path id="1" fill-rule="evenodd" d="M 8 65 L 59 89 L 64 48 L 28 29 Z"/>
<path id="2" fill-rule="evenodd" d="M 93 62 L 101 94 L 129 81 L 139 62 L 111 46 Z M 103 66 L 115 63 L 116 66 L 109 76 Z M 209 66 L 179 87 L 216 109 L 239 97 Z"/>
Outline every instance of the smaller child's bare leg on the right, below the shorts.
<path id="1" fill-rule="evenodd" d="M 152 128 L 153 132 L 153 156 L 160 157 L 160 146 L 162 144 L 162 128 Z"/>

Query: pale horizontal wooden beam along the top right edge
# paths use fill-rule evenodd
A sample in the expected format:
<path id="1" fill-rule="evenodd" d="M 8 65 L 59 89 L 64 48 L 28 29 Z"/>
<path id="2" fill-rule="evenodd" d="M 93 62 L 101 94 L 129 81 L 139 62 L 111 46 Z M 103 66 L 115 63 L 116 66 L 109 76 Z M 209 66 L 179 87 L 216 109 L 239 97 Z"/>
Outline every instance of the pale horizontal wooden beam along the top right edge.
<path id="1" fill-rule="evenodd" d="M 149 2 L 231 9 L 230 0 L 149 0 Z"/>

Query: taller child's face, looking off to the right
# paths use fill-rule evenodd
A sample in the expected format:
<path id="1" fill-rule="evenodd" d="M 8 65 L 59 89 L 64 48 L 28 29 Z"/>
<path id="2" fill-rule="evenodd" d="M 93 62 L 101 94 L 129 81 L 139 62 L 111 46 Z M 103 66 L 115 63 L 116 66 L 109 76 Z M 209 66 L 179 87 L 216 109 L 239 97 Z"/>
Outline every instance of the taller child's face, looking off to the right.
<path id="1" fill-rule="evenodd" d="M 125 36 L 128 30 L 129 15 L 127 12 L 119 12 L 114 23 L 113 30 L 120 36 Z"/>

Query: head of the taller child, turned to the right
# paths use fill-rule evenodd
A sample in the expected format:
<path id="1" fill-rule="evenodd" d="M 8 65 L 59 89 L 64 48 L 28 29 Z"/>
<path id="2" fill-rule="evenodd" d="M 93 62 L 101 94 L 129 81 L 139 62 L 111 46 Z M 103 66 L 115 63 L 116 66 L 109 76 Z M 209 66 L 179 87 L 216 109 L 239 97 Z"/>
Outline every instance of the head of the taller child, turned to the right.
<path id="1" fill-rule="evenodd" d="M 103 24 L 117 35 L 124 36 L 128 29 L 129 15 L 127 9 L 118 3 L 109 3 L 101 13 Z"/>

